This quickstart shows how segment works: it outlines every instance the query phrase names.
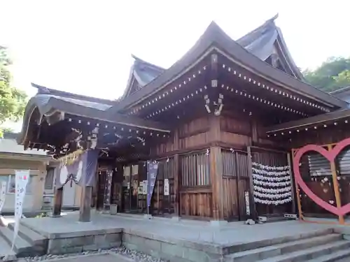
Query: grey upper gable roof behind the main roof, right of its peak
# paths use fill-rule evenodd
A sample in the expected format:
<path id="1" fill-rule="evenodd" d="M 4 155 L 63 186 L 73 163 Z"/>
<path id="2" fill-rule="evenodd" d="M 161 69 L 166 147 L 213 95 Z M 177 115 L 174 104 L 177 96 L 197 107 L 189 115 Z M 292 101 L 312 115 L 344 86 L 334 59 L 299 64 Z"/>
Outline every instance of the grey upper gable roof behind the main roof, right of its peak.
<path id="1" fill-rule="evenodd" d="M 291 75 L 294 75 L 299 80 L 303 80 L 304 77 L 290 55 L 281 29 L 274 23 L 277 17 L 278 15 L 275 15 L 260 27 L 239 38 L 237 43 L 262 61 L 274 54 L 274 50 L 278 48 L 281 51 L 280 59 L 283 60 L 283 64 L 288 66 Z"/>

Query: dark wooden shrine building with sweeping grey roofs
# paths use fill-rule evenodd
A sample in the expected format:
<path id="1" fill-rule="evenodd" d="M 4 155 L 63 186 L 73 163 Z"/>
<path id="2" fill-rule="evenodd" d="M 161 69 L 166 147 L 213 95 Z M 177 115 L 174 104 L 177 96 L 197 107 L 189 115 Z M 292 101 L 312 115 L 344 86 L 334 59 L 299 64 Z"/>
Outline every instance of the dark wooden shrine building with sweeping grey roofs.
<path id="1" fill-rule="evenodd" d="M 231 221 L 296 212 L 303 197 L 291 179 L 297 148 L 348 138 L 350 111 L 346 101 L 307 85 L 275 18 L 237 41 L 212 22 L 168 69 L 134 57 L 118 101 L 33 84 L 38 93 L 27 105 L 18 142 L 48 150 L 62 167 L 97 152 L 96 163 L 76 171 L 82 177 L 81 170 L 94 172 L 93 182 L 80 183 L 81 221 L 90 219 L 90 208 L 110 205 L 146 213 L 146 161 L 158 163 L 153 215 Z M 305 156 L 302 167 L 310 174 L 322 157 Z M 322 170 L 305 179 L 316 191 L 318 178 L 332 180 L 331 168 Z M 78 181 L 62 172 L 61 184 Z M 54 214 L 61 198 L 57 187 Z M 300 214 L 322 213 L 311 202 Z"/>

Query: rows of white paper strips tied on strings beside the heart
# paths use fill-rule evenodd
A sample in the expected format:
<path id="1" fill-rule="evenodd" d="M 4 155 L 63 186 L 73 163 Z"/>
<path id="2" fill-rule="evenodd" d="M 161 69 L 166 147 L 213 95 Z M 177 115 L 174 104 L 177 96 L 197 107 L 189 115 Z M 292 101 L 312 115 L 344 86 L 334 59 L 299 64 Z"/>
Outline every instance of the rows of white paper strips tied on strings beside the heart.
<path id="1" fill-rule="evenodd" d="M 252 163 L 255 203 L 282 205 L 292 201 L 289 166 Z"/>

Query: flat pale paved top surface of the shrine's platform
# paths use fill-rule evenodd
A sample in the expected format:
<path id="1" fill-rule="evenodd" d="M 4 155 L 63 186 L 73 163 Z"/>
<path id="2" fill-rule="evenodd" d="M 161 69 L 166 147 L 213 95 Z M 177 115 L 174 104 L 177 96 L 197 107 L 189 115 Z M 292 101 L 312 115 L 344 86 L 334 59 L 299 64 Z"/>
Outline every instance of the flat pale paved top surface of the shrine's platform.
<path id="1" fill-rule="evenodd" d="M 78 213 L 76 212 L 59 218 L 27 218 L 22 219 L 22 222 L 45 233 L 45 235 L 126 228 L 158 235 L 163 238 L 211 242 L 219 245 L 235 245 L 256 240 L 267 240 L 331 227 L 329 225 L 309 224 L 300 221 L 281 221 L 255 224 L 253 226 L 244 225 L 243 222 L 232 222 L 218 227 L 211 226 L 204 221 L 144 219 L 144 217 L 111 216 L 98 213 L 93 213 L 91 222 L 81 223 L 78 222 Z"/>

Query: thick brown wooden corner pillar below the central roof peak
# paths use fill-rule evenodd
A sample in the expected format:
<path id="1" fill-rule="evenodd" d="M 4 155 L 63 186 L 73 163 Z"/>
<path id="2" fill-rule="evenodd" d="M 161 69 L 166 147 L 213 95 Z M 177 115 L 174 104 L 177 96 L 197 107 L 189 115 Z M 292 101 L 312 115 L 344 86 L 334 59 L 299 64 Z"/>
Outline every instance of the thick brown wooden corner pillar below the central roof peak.
<path id="1" fill-rule="evenodd" d="M 210 147 L 210 177 L 214 220 L 223 220 L 223 164 L 221 147 Z"/>

